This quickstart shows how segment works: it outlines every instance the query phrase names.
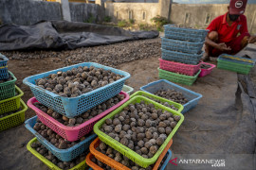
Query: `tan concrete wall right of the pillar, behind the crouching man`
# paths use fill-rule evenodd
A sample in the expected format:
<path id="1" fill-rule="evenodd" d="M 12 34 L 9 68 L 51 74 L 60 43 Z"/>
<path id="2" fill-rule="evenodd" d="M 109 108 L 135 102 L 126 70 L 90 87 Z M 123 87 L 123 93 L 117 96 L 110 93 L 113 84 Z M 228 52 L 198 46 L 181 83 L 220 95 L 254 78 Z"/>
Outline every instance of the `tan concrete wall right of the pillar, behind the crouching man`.
<path id="1" fill-rule="evenodd" d="M 228 5 L 224 4 L 173 4 L 171 22 L 175 25 L 206 28 L 210 21 L 227 11 Z M 256 5 L 247 5 L 245 15 L 247 16 L 248 31 L 256 33 Z M 209 18 L 208 23 L 207 18 Z"/>

